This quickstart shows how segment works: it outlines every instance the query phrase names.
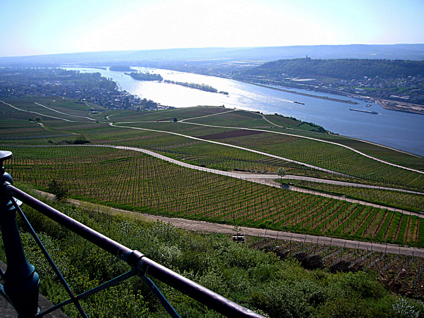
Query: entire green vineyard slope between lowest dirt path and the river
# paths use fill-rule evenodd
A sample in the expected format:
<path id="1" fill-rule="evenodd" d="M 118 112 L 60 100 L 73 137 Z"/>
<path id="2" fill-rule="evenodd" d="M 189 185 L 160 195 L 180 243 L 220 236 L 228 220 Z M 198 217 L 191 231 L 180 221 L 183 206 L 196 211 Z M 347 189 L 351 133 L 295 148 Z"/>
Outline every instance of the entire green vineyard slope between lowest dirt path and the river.
<path id="1" fill-rule="evenodd" d="M 332 142 L 349 141 L 351 142 L 349 146 L 355 149 L 368 151 L 372 155 L 378 153 L 380 157 L 388 161 L 404 163 L 406 166 L 409 162 L 410 166 L 416 168 L 421 167 L 421 157 L 336 135 L 306 130 L 272 128 L 273 131 L 294 131 L 297 134 L 288 136 L 266 131 L 169 122 L 173 121 L 173 118 L 182 120 L 200 117 L 191 119 L 189 122 L 271 129 L 272 124 L 266 122 L 260 114 L 233 112 L 222 107 L 140 112 L 106 110 L 99 107 L 90 109 L 89 106 L 72 100 L 5 101 L 22 110 L 26 107 L 30 111 L 59 117 L 55 119 L 38 115 L 41 118 L 37 120 L 41 121 L 36 123 L 28 120 L 28 117 L 34 117 L 33 114 L 18 111 L 0 103 L 0 112 L 5 114 L 0 119 L 0 145 L 3 145 L 2 149 L 14 152 L 14 159 L 6 165 L 11 169 L 14 178 L 29 182 L 40 189 L 46 189 L 52 179 L 57 179 L 75 198 L 97 200 L 104 204 L 137 211 L 214 222 L 226 219 L 254 227 L 305 233 L 321 232 L 336 237 L 349 236 L 367 240 L 371 238 L 375 240 L 378 237 L 380 241 L 389 240 L 421 246 L 416 217 L 404 216 L 403 220 L 408 219 L 405 231 L 404 223 L 402 226 L 399 225 L 397 231 L 392 231 L 393 226 L 397 224 L 397 217 L 390 217 L 392 220 L 388 222 L 388 214 L 383 210 L 374 211 L 368 207 L 358 207 L 344 201 L 328 200 L 320 196 L 305 195 L 187 170 L 134 151 L 74 146 L 44 148 L 14 146 L 69 146 L 76 140 L 82 139 L 88 140 L 91 145 L 120 145 L 149 149 L 190 164 L 223 171 L 275 173 L 279 167 L 285 167 L 287 173 L 293 175 L 388 185 L 411 190 L 423 189 L 424 174 L 377 162 L 339 145 L 301 138 L 298 134 L 319 136 L 321 139 Z M 53 109 L 66 114 L 53 112 Z M 11 111 L 10 116 L 9 111 Z M 106 120 L 107 116 L 109 120 Z M 267 118 L 271 121 L 278 120 L 281 126 L 287 124 L 288 126 L 304 126 L 305 129 L 314 128 L 311 125 L 308 128 L 307 124 L 286 117 L 267 115 Z M 114 126 L 109 125 L 112 121 Z M 145 130 L 119 126 L 145 128 Z M 192 136 L 200 140 L 167 132 Z M 207 140 L 282 156 L 351 177 L 321 172 L 300 164 L 249 150 L 211 143 Z M 125 175 L 124 180 L 117 181 L 119 173 Z M 183 179 L 180 180 L 179 176 Z M 402 193 L 402 195 L 393 195 L 392 198 L 391 192 L 380 193 L 370 190 L 360 192 L 358 189 L 362 188 L 352 187 L 329 189 L 326 184 L 318 184 L 314 188 L 323 192 L 334 190 L 333 192 L 340 195 L 402 207 L 411 211 L 422 210 L 422 201 L 420 196 L 416 195 L 408 196 Z M 160 195 L 156 196 L 156 193 Z M 398 193 L 400 192 L 396 192 Z M 382 223 L 377 226 L 378 222 Z M 409 223 L 411 226 L 408 226 Z M 396 235 L 392 237 L 380 235 L 380 227 L 384 228 L 384 231 L 387 229 L 386 234 L 396 232 Z"/>

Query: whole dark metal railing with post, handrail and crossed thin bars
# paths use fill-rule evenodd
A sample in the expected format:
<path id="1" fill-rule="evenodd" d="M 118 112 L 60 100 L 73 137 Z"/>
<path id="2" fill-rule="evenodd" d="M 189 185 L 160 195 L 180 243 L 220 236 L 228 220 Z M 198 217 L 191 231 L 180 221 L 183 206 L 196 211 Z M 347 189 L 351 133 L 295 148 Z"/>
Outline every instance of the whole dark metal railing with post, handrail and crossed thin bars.
<path id="1" fill-rule="evenodd" d="M 143 282 L 148 285 L 149 289 L 156 298 L 158 298 L 159 302 L 171 317 L 179 318 L 178 313 L 162 295 L 151 279 L 146 276 L 146 274 L 164 282 L 176 290 L 179 290 L 181 293 L 184 293 L 226 317 L 264 318 L 264 316 L 240 306 L 239 304 L 214 293 L 206 287 L 192 282 L 190 279 L 187 279 L 154 262 L 139 251 L 133 251 L 130 248 L 111 240 L 109 237 L 90 229 L 88 226 L 79 223 L 73 218 L 64 215 L 58 210 L 53 209 L 51 206 L 48 206 L 36 198 L 33 198 L 31 195 L 17 189 L 13 186 L 11 176 L 5 172 L 3 167 L 3 161 L 11 157 L 12 153 L 10 151 L 0 151 L 0 229 L 3 237 L 3 245 L 7 262 L 6 272 L 3 273 L 0 270 L 0 276 L 4 280 L 4 285 L 0 284 L 0 294 L 15 308 L 20 318 L 42 317 L 72 303 L 78 309 L 81 316 L 86 318 L 87 315 L 79 302 L 81 299 L 97 293 L 100 290 L 117 285 L 133 276 L 139 276 Z M 75 296 L 36 232 L 33 230 L 31 224 L 28 222 L 28 219 L 22 212 L 22 209 L 20 208 L 22 203 L 31 206 L 33 209 L 47 216 L 47 218 L 56 221 L 70 231 L 84 237 L 84 239 L 89 242 L 113 254 L 118 259 L 127 262 L 128 265 L 131 266 L 131 270 Z M 53 268 L 53 271 L 58 276 L 59 281 L 70 296 L 68 300 L 63 301 L 60 304 L 56 304 L 44 312 L 39 312 L 38 309 L 39 275 L 36 273 L 34 266 L 29 264 L 25 257 L 19 228 L 16 222 L 16 212 L 18 212 L 22 218 L 28 232 L 33 236 L 42 253 L 47 258 L 50 266 Z"/>

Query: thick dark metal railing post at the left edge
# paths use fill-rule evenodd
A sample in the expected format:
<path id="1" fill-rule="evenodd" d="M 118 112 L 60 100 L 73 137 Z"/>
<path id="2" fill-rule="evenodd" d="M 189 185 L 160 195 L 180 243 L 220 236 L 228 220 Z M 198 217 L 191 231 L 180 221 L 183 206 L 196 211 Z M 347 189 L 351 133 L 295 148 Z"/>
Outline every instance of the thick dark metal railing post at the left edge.
<path id="1" fill-rule="evenodd" d="M 7 262 L 4 291 L 18 317 L 27 318 L 37 314 L 40 279 L 34 266 L 25 258 L 16 223 L 16 209 L 4 191 L 7 184 L 13 184 L 10 174 L 3 167 L 3 161 L 11 157 L 10 151 L 0 151 L 0 229 Z"/>

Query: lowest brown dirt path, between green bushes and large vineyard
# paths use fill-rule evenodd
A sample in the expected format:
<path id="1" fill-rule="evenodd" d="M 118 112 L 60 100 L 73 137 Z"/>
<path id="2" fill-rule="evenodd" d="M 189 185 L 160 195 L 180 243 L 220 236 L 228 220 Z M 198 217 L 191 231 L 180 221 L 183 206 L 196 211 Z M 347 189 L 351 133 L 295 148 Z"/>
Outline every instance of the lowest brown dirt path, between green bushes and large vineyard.
<path id="1" fill-rule="evenodd" d="M 53 199 L 53 195 L 50 193 L 42 192 L 43 195 L 46 195 L 47 198 Z M 156 221 L 161 220 L 165 223 L 171 223 L 173 226 L 184 229 L 187 231 L 194 231 L 198 233 L 220 233 L 220 234 L 234 234 L 234 226 L 228 224 L 220 224 L 220 223 L 209 223 L 204 221 L 196 221 L 196 220 L 186 220 L 182 218 L 168 218 L 159 215 L 151 215 L 146 213 L 132 212 L 126 211 L 122 209 L 110 208 L 107 206 L 102 206 L 98 204 L 92 204 L 84 201 L 70 199 L 70 203 L 75 204 L 76 206 L 81 206 L 81 208 L 98 211 L 103 213 L 112 213 L 112 214 L 125 214 L 125 215 L 133 215 L 135 218 L 141 218 L 144 220 Z M 339 238 L 332 238 L 327 236 L 319 236 L 319 235 L 309 235 L 309 234 L 298 234 L 291 232 L 283 232 L 283 231 L 272 231 L 265 229 L 255 229 L 250 227 L 241 227 L 241 233 L 243 235 L 249 236 L 257 236 L 257 237 L 266 237 L 266 238 L 274 238 L 274 239 L 282 239 L 282 240 L 293 240 L 297 242 L 307 242 L 307 243 L 319 243 L 326 245 L 333 245 L 339 247 L 346 248 L 358 248 L 360 250 L 373 250 L 378 252 L 385 252 L 391 254 L 402 254 L 402 255 L 414 255 L 416 257 L 424 257 L 424 249 L 421 248 L 413 248 L 413 247 L 404 247 L 392 244 L 380 244 L 380 243 L 370 243 L 370 242 L 361 242 L 355 240 L 344 240 Z"/>

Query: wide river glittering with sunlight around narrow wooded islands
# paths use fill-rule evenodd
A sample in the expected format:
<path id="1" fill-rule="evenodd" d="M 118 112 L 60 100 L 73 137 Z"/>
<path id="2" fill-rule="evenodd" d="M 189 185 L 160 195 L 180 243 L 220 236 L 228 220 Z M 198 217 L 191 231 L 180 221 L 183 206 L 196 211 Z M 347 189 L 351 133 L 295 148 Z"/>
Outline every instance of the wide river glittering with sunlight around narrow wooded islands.
<path id="1" fill-rule="evenodd" d="M 159 73 L 167 80 L 208 84 L 218 91 L 228 92 L 229 95 L 203 92 L 198 89 L 164 82 L 137 81 L 129 75 L 124 75 L 123 72 L 92 68 L 64 68 L 81 72 L 100 72 L 105 77 L 113 78 L 121 90 L 126 90 L 141 98 L 154 100 L 162 105 L 174 107 L 225 105 L 228 108 L 237 107 L 238 109 L 263 112 L 264 114 L 279 113 L 316 123 L 343 136 L 376 142 L 424 156 L 424 116 L 386 110 L 377 103 L 371 103 L 371 107 L 365 107 L 366 102 L 351 98 L 351 100 L 360 103 L 359 105 L 352 105 L 277 91 L 226 78 L 144 67 L 133 68 Z M 296 91 L 348 99 L 340 95 L 302 89 L 296 89 Z M 305 103 L 305 105 L 296 104 L 293 101 Z M 379 114 L 354 112 L 349 110 L 350 108 L 374 110 Z"/>

